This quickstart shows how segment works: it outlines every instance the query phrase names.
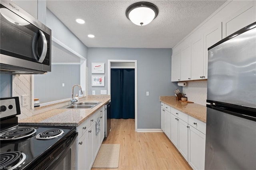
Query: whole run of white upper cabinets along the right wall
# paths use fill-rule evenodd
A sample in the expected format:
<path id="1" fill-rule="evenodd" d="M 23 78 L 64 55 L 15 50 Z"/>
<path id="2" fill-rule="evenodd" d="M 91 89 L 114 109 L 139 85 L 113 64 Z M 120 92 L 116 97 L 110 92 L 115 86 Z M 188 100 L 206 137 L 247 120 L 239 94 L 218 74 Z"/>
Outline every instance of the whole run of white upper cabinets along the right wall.
<path id="1" fill-rule="evenodd" d="M 173 48 L 171 80 L 207 79 L 208 48 L 253 22 L 255 0 L 227 1 Z"/>

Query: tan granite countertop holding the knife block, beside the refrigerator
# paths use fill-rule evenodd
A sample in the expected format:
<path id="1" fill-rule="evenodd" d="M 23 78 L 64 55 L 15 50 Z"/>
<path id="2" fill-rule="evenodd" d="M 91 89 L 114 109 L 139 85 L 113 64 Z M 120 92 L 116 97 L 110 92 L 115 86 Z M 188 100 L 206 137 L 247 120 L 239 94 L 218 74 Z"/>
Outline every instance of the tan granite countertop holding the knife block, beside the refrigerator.
<path id="1" fill-rule="evenodd" d="M 160 102 L 206 123 L 206 106 L 180 102 L 176 100 L 175 96 L 160 96 Z"/>

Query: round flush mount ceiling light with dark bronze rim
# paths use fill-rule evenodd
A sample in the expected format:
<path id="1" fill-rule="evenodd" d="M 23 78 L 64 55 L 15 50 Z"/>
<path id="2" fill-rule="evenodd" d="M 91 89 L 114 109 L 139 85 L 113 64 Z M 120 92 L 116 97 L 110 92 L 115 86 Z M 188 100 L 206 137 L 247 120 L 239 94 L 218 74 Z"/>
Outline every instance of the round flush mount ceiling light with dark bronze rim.
<path id="1" fill-rule="evenodd" d="M 126 10 L 126 17 L 138 26 L 149 24 L 158 15 L 158 8 L 150 2 L 137 2 Z"/>

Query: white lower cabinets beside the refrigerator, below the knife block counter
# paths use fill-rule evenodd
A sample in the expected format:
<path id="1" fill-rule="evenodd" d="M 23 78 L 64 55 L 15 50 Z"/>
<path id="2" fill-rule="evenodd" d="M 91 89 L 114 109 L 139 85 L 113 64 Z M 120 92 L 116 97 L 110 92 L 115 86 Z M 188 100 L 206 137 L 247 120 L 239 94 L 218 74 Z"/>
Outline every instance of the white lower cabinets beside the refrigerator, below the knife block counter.
<path id="1" fill-rule="evenodd" d="M 164 132 L 166 136 L 169 137 L 168 130 L 170 129 L 171 142 L 188 161 L 190 166 L 194 170 L 203 170 L 206 123 L 188 116 L 177 109 L 171 108 L 170 110 L 169 116 L 169 112 L 161 108 L 161 117 L 164 115 Z"/>

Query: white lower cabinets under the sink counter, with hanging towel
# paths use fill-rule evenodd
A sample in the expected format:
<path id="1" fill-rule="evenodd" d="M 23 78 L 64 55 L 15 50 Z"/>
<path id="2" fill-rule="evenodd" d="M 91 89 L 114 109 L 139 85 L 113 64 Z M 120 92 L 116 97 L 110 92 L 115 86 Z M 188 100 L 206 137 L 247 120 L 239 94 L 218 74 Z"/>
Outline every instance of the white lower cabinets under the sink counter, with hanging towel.
<path id="1" fill-rule="evenodd" d="M 77 167 L 78 170 L 90 170 L 98 154 L 105 132 L 104 106 L 77 127 Z M 100 121 L 100 131 L 96 135 L 96 122 Z"/>

